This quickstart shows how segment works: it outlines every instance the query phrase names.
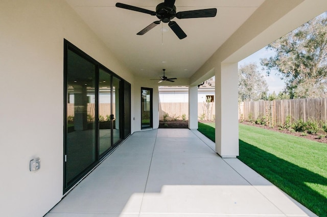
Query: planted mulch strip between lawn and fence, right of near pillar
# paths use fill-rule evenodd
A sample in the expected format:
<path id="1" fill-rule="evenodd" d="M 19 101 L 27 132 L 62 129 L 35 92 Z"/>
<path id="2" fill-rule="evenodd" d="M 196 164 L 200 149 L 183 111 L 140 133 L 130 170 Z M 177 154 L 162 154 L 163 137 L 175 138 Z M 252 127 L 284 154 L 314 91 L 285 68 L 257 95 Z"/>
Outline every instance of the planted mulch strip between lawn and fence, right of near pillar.
<path id="1" fill-rule="evenodd" d="M 281 129 L 278 126 L 269 127 L 269 126 L 266 126 L 266 125 L 254 124 L 254 123 L 251 123 L 251 122 L 248 122 L 248 121 L 243 121 L 243 122 L 241 122 L 241 124 L 246 124 L 246 125 L 251 125 L 251 126 L 255 126 L 255 127 L 268 129 L 268 130 L 273 130 L 273 131 L 277 131 L 277 132 L 291 134 L 291 135 L 295 135 L 296 137 L 306 138 L 308 140 L 313 140 L 313 141 L 320 142 L 320 143 L 327 143 L 327 137 L 319 139 L 318 135 L 315 135 L 315 134 L 307 133 L 307 135 L 302 135 L 302 132 L 293 132 L 293 131 L 290 131 L 288 129 Z M 322 133 L 322 134 L 324 134 L 324 133 Z"/>

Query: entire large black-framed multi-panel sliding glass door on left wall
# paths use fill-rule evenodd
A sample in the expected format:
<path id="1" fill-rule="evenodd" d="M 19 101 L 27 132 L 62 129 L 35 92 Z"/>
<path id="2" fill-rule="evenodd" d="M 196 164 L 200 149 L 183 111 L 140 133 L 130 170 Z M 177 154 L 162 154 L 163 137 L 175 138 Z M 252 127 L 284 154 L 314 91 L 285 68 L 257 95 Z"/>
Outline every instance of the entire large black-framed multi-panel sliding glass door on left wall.
<path id="1" fill-rule="evenodd" d="M 130 134 L 130 85 L 67 41 L 64 56 L 66 192 Z"/>

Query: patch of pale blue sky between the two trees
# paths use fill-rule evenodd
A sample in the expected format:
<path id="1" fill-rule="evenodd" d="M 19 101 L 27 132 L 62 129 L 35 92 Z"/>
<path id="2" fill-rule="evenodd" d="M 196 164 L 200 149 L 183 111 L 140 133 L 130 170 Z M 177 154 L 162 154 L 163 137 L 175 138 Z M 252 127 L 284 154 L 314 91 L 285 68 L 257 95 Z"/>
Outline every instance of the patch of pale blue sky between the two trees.
<path id="1" fill-rule="evenodd" d="M 265 47 L 261 50 L 256 51 L 251 56 L 241 60 L 239 62 L 239 66 L 247 65 L 249 63 L 255 63 L 258 66 L 258 70 L 261 74 L 266 78 L 266 82 L 268 84 L 268 94 L 271 94 L 275 91 L 278 94 L 280 91 L 283 91 L 285 87 L 284 80 L 282 80 L 278 75 L 275 75 L 275 71 L 271 70 L 269 76 L 267 76 L 266 70 L 263 70 L 262 66 L 260 65 L 260 59 L 269 58 L 274 56 L 274 51 L 267 50 Z"/>

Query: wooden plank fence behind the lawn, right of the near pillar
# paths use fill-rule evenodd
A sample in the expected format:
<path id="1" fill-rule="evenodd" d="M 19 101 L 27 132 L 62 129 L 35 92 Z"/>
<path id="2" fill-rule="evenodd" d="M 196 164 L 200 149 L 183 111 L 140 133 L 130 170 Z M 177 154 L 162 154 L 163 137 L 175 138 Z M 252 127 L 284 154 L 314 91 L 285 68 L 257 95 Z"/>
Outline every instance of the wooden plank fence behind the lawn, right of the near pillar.
<path id="1" fill-rule="evenodd" d="M 239 103 L 239 120 L 252 121 L 266 118 L 269 124 L 285 124 L 287 117 L 291 123 L 302 119 L 327 121 L 327 98 L 288 99 Z"/>

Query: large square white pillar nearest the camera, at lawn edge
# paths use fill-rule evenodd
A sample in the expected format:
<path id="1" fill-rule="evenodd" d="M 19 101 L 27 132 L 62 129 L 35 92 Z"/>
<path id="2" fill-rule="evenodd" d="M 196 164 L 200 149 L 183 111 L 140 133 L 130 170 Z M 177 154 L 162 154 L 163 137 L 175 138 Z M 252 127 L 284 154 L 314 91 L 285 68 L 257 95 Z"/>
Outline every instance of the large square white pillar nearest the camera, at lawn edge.
<path id="1" fill-rule="evenodd" d="M 221 157 L 239 155 L 238 63 L 216 70 L 216 152 Z"/>

